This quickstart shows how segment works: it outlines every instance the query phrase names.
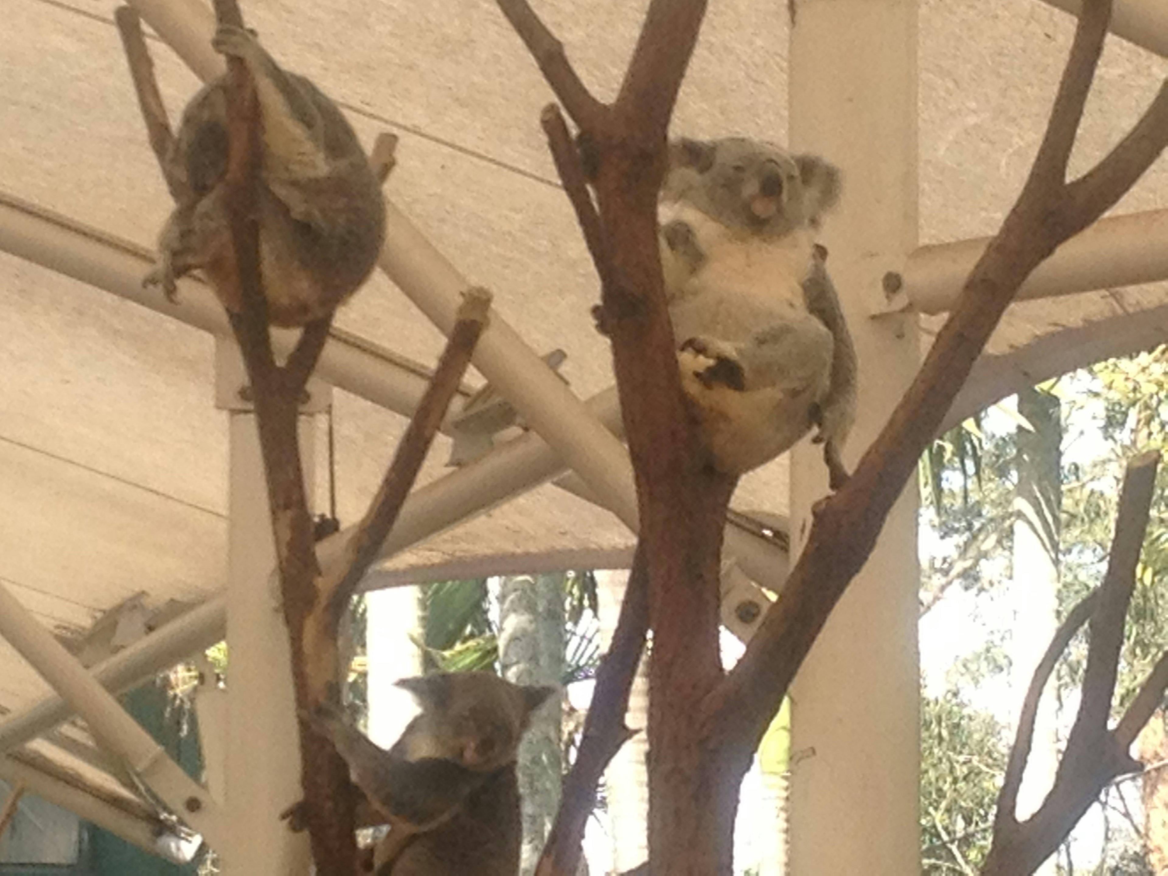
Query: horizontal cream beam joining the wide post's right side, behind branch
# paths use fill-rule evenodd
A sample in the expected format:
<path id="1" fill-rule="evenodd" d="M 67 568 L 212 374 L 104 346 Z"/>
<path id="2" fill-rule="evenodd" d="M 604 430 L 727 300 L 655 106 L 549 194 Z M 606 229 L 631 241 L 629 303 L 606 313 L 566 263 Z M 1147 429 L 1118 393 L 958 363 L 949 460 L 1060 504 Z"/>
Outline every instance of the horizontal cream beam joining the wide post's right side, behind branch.
<path id="1" fill-rule="evenodd" d="M 1168 2 L 1164 9 L 1168 11 Z M 915 250 L 903 273 L 906 304 L 922 313 L 952 310 L 989 241 L 979 237 Z M 1072 237 L 1027 278 L 1015 300 L 1164 279 L 1168 279 L 1168 210 L 1149 210 L 1099 220 Z"/>

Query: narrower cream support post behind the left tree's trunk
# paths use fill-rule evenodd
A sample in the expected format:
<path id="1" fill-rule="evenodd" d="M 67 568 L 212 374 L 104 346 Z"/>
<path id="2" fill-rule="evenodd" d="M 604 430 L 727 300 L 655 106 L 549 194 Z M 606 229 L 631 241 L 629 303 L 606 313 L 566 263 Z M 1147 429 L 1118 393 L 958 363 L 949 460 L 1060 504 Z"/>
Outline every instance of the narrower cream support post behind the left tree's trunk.
<path id="1" fill-rule="evenodd" d="M 299 728 L 288 634 L 270 578 L 276 545 L 259 432 L 255 412 L 241 396 L 246 377 L 238 347 L 220 338 L 215 353 L 216 398 L 229 411 L 230 436 L 225 872 L 307 876 L 308 834 L 293 833 L 280 820 L 301 794 Z M 313 396 L 318 389 L 310 383 Z M 300 418 L 307 485 L 313 482 L 311 423 Z"/>

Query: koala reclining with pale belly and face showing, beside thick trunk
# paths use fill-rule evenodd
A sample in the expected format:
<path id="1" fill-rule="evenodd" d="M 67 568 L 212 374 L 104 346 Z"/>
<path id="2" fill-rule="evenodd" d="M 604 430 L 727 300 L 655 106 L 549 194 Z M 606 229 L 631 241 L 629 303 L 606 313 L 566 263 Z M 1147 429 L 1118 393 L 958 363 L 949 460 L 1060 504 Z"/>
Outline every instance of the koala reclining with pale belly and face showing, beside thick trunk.
<path id="1" fill-rule="evenodd" d="M 856 354 L 814 242 L 840 173 L 744 138 L 680 140 L 659 197 L 682 388 L 716 468 L 742 474 L 813 427 L 832 487 L 855 418 Z"/>

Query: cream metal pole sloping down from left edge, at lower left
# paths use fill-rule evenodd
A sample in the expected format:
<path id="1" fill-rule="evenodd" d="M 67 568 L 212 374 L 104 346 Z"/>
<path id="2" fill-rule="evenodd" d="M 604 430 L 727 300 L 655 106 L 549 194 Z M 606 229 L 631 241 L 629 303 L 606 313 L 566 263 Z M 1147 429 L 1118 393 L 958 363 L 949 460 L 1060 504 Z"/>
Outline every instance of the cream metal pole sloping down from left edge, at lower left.
<path id="1" fill-rule="evenodd" d="M 222 842 L 225 825 L 207 788 L 171 760 L 162 746 L 4 585 L 0 635 L 85 718 L 102 748 L 125 760 L 127 769 L 208 842 Z"/>

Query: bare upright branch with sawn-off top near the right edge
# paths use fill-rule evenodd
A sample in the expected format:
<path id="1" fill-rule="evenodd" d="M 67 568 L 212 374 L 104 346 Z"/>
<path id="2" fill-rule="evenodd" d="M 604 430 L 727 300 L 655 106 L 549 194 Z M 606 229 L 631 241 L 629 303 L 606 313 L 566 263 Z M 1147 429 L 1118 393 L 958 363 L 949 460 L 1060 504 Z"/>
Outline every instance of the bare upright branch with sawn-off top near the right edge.
<path id="1" fill-rule="evenodd" d="M 1132 591 L 1135 589 L 1135 566 L 1143 547 L 1143 533 L 1148 527 L 1159 464 L 1157 452 L 1140 454 L 1127 464 L 1115 513 L 1115 534 L 1111 542 L 1107 573 L 1099 588 L 1099 607 L 1091 618 L 1091 646 L 1083 673 L 1083 698 L 1066 741 L 1066 757 L 1094 749 L 1097 739 L 1107 731 L 1119 655 L 1124 647 L 1124 624 Z"/>

